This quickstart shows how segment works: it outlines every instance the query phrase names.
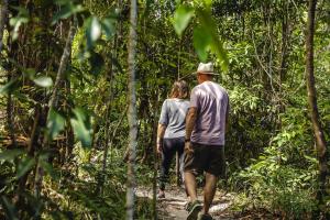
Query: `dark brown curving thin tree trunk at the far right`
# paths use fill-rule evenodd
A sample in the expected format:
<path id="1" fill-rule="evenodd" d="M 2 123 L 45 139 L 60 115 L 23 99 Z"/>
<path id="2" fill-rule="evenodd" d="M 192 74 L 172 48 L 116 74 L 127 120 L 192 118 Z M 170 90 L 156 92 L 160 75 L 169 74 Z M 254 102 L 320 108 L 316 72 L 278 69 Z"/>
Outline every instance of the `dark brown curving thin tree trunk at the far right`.
<path id="1" fill-rule="evenodd" d="M 318 200 L 322 202 L 322 197 L 326 193 L 326 179 L 328 174 L 327 166 L 327 145 L 323 130 L 320 123 L 320 117 L 317 106 L 317 91 L 314 77 L 314 33 L 315 33 L 315 12 L 317 0 L 309 0 L 308 19 L 307 19 L 307 35 L 306 35 L 306 82 L 308 92 L 308 103 L 310 108 L 311 122 L 314 134 L 316 138 L 316 146 L 319 158 L 319 182 L 320 188 L 318 191 Z"/>

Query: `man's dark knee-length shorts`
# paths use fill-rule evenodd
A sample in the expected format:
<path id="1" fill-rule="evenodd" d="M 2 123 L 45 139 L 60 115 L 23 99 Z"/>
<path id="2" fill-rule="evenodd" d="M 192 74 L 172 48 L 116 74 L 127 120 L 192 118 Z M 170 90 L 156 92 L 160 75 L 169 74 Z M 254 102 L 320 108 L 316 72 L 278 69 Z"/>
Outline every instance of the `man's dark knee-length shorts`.
<path id="1" fill-rule="evenodd" d="M 226 177 L 224 146 L 191 143 L 193 152 L 185 151 L 185 172 L 202 172 Z"/>

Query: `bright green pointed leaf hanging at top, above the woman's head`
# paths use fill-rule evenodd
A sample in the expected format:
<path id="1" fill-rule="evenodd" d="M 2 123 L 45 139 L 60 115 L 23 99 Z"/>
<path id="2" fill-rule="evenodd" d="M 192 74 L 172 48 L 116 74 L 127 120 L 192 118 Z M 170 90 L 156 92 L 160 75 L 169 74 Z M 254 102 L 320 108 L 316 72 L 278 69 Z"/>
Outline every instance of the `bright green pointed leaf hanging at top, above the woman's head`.
<path id="1" fill-rule="evenodd" d="M 177 10 L 174 13 L 173 19 L 173 25 L 176 31 L 176 33 L 180 36 L 185 29 L 187 28 L 190 19 L 194 15 L 194 9 L 186 7 L 186 6 L 179 6 Z"/>

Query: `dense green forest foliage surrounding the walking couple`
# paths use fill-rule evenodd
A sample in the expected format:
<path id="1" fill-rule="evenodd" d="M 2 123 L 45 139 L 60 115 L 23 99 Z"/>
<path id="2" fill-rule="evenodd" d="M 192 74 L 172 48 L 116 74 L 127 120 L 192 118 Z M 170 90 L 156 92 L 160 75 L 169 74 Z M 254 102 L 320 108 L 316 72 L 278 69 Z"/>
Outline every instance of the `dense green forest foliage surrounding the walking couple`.
<path id="1" fill-rule="evenodd" d="M 124 218 L 128 2 L 8 2 L 0 52 L 0 219 Z M 319 1 L 315 34 L 327 141 L 329 9 L 329 1 Z M 285 0 L 139 1 L 139 186 L 155 180 L 155 130 L 173 81 L 184 78 L 193 88 L 197 81 L 190 73 L 200 61 L 212 61 L 220 73 L 216 80 L 230 96 L 227 186 L 241 193 L 235 208 L 266 208 L 292 219 L 329 210 L 327 198 L 320 206 L 315 199 L 318 164 L 304 76 L 306 10 L 306 2 Z M 70 25 L 78 30 L 58 105 L 48 109 Z M 136 204 L 136 219 L 152 219 L 151 202 Z"/>

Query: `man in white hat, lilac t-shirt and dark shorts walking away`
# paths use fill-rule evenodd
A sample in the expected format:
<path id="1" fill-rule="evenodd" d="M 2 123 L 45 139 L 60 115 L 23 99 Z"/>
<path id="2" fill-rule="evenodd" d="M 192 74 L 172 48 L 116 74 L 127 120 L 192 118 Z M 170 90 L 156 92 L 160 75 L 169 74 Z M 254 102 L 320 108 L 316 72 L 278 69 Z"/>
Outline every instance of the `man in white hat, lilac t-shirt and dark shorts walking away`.
<path id="1" fill-rule="evenodd" d="M 212 204 L 218 178 L 224 175 L 224 133 L 228 124 L 229 97 L 224 88 L 212 81 L 212 63 L 200 63 L 198 86 L 191 90 L 186 118 L 185 183 L 190 201 L 188 220 L 212 219 Z M 205 173 L 204 206 L 197 199 L 196 176 Z M 199 213 L 200 212 L 200 213 Z"/>

